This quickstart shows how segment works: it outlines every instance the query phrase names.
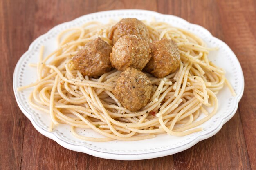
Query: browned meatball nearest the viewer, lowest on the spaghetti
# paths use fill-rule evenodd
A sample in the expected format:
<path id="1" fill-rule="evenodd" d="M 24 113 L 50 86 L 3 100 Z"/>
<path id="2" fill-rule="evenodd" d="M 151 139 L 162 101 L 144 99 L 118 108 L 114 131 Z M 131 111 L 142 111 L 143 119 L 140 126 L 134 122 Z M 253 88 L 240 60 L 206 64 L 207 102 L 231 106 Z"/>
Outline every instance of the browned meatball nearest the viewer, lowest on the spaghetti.
<path id="1" fill-rule="evenodd" d="M 125 108 L 136 112 L 146 106 L 151 90 L 151 82 L 144 73 L 127 68 L 118 77 L 112 93 Z"/>

